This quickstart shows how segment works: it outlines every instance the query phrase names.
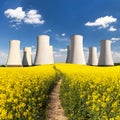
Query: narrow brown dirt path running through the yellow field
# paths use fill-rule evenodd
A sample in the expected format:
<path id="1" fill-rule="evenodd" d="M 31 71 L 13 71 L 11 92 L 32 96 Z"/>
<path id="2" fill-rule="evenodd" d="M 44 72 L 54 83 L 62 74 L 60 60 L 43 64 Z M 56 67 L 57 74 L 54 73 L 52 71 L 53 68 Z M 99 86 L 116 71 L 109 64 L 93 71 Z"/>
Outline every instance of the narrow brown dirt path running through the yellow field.
<path id="1" fill-rule="evenodd" d="M 61 81 L 58 82 L 50 95 L 47 120 L 67 120 L 59 99 Z"/>

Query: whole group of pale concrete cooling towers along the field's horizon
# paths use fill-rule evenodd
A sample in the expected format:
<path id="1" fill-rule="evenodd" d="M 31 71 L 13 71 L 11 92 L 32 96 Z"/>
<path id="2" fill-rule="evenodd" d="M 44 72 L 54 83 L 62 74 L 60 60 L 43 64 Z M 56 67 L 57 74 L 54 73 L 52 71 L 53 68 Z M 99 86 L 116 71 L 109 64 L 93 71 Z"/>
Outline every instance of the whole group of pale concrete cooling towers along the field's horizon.
<path id="1" fill-rule="evenodd" d="M 39 35 L 37 37 L 37 50 L 33 63 L 31 47 L 24 47 L 23 59 L 21 59 L 20 41 L 11 40 L 6 66 L 32 66 L 54 64 L 53 46 L 50 45 L 50 37 L 48 35 Z M 113 66 L 114 63 L 111 52 L 111 41 L 102 40 L 100 42 L 99 59 L 97 55 L 97 48 L 89 47 L 89 57 L 88 62 L 86 62 L 83 50 L 83 36 L 73 35 L 70 37 L 70 45 L 67 46 L 66 63 L 82 65 L 87 64 L 93 66 Z"/>

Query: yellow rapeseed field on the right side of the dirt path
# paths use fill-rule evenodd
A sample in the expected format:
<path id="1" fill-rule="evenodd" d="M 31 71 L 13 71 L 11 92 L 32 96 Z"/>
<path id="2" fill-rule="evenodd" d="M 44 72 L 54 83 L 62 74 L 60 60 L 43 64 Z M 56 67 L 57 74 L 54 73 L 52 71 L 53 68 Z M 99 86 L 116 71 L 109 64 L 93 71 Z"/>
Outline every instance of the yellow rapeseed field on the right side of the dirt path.
<path id="1" fill-rule="evenodd" d="M 120 67 L 57 65 L 69 120 L 120 120 Z"/>

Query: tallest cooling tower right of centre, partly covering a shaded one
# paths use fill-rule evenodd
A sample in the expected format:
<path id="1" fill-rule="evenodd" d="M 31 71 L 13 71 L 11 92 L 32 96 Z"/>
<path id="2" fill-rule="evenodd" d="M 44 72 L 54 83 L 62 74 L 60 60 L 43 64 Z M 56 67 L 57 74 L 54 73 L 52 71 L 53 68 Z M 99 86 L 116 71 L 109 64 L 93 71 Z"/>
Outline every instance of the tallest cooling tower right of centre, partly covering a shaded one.
<path id="1" fill-rule="evenodd" d="M 71 37 L 71 63 L 86 64 L 83 52 L 83 36 L 81 35 Z"/>

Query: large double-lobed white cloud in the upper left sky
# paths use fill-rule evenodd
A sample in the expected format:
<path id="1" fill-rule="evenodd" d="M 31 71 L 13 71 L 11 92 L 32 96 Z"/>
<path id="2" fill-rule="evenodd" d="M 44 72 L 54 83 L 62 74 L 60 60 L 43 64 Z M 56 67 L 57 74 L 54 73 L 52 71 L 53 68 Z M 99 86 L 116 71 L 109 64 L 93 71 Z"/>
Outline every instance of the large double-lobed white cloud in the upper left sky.
<path id="1" fill-rule="evenodd" d="M 27 24 L 44 24 L 42 15 L 37 10 L 24 11 L 22 7 L 16 9 L 7 9 L 4 12 L 5 16 L 10 19 L 10 22 L 15 22 L 16 25 L 23 23 Z"/>

